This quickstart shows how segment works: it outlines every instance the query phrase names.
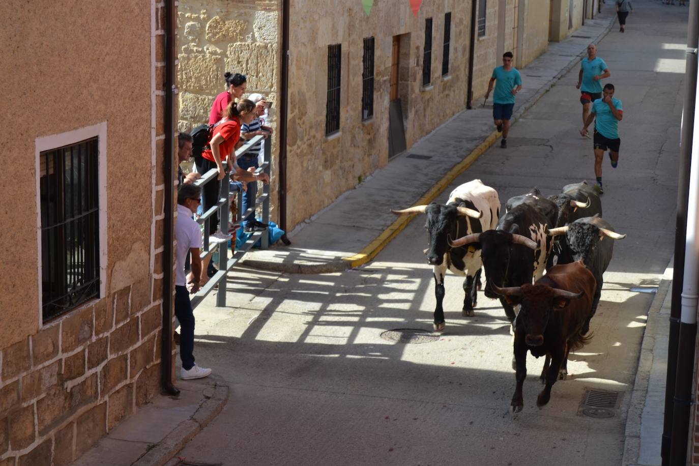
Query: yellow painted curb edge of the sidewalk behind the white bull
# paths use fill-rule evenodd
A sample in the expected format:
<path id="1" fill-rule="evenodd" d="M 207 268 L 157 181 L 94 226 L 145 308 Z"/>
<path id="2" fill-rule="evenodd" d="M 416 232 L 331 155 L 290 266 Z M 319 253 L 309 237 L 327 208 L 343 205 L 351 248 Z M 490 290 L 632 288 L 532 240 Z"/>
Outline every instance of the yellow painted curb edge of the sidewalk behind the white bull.
<path id="1" fill-rule="evenodd" d="M 488 148 L 493 145 L 500 133 L 493 131 L 490 136 L 488 136 L 478 147 L 476 147 L 470 154 L 468 154 L 462 161 L 456 163 L 454 168 L 449 170 L 447 175 L 442 178 L 437 184 L 435 184 L 429 191 L 427 191 L 424 196 L 418 199 L 414 205 L 424 205 L 431 203 L 434 199 L 439 196 L 442 191 L 447 189 L 449 184 L 452 184 L 456 177 L 461 175 L 466 168 L 473 165 L 478 157 L 480 157 L 483 152 L 488 150 Z M 361 250 L 358 254 L 354 256 L 343 257 L 343 261 L 349 262 L 350 268 L 359 267 L 359 265 L 366 264 L 368 261 L 375 258 L 379 252 L 384 249 L 384 247 L 394 238 L 398 233 L 401 233 L 403 228 L 408 225 L 410 220 L 412 220 L 414 215 L 406 215 L 405 217 L 398 217 L 383 233 L 377 236 L 375 240 L 369 243 L 367 247 Z"/>

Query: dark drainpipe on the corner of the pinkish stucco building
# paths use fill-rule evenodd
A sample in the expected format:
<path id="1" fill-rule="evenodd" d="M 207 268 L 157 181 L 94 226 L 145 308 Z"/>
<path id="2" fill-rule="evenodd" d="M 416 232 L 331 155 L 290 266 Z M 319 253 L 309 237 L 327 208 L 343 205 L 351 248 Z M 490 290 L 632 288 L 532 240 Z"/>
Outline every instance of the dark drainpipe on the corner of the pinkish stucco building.
<path id="1" fill-rule="evenodd" d="M 178 395 L 180 391 L 173 385 L 173 250 L 175 243 L 175 207 L 173 197 L 173 180 L 175 178 L 175 0 L 165 1 L 165 156 L 163 170 L 164 190 L 164 225 L 163 225 L 163 333 L 161 335 L 160 366 L 161 384 L 168 395 Z"/>

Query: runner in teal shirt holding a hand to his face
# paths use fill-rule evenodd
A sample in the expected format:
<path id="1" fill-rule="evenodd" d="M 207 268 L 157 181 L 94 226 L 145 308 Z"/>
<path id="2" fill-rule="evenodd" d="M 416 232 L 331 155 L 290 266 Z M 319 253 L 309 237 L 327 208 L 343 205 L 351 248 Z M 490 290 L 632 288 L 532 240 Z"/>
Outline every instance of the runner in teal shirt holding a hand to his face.
<path id="1" fill-rule="evenodd" d="M 605 151 L 608 149 L 610 151 L 612 168 L 617 168 L 619 163 L 619 146 L 621 145 L 619 122 L 621 122 L 621 118 L 624 116 L 624 108 L 621 106 L 621 101 L 614 99 L 614 85 L 607 83 L 603 89 L 603 98 L 597 99 L 592 103 L 590 116 L 580 130 L 580 134 L 587 132 L 587 126 L 592 123 L 595 116 L 597 116 L 593 139 L 595 176 L 597 177 L 597 186 L 600 194 L 604 194 L 602 188 L 602 161 Z"/>

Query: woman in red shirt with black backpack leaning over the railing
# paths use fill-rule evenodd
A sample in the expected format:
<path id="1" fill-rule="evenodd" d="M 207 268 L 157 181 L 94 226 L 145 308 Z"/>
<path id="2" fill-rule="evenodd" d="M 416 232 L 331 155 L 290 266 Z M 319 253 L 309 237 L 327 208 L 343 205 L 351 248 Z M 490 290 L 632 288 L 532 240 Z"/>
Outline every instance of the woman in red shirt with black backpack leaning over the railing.
<path id="1" fill-rule="evenodd" d="M 261 181 L 269 182 L 266 173 L 255 173 L 243 170 L 236 163 L 236 147 L 240 141 L 240 125 L 252 122 L 254 118 L 255 104 L 247 99 L 238 103 L 229 103 L 224 112 L 224 117 L 219 121 L 219 124 L 214 127 L 212 138 L 209 141 L 208 149 L 201 153 L 203 157 L 201 167 L 197 166 L 197 171 L 204 176 L 212 168 L 218 170 L 216 180 L 211 180 L 204 185 L 204 212 L 216 205 L 221 194 L 221 180 L 226 177 L 226 170 L 223 166 L 223 161 L 227 160 L 229 167 L 235 170 L 236 179 L 243 182 Z M 201 168 L 201 170 L 200 170 Z M 209 234 L 214 234 L 218 229 L 218 215 L 212 215 L 209 221 Z M 226 234 L 226 233 L 224 233 Z M 206 269 L 205 269 L 206 270 Z"/>

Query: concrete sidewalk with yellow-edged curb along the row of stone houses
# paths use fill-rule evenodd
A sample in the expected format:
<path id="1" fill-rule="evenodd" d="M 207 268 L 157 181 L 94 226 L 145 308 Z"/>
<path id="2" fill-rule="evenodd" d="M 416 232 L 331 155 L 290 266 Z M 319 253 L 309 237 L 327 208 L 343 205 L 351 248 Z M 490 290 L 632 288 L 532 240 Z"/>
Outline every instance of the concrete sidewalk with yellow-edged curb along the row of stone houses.
<path id="1" fill-rule="evenodd" d="M 524 86 L 513 123 L 561 76 L 579 66 L 589 43 L 597 43 L 610 31 L 616 16 L 607 10 L 585 20 L 565 41 L 549 43 L 545 54 L 520 70 Z M 391 208 L 430 203 L 496 141 L 492 105 L 481 108 L 481 104 L 474 102 L 473 110 L 455 115 L 291 231 L 290 247 L 254 250 L 242 264 L 278 272 L 327 273 L 373 259 L 412 220 L 412 216 L 396 217 Z"/>

